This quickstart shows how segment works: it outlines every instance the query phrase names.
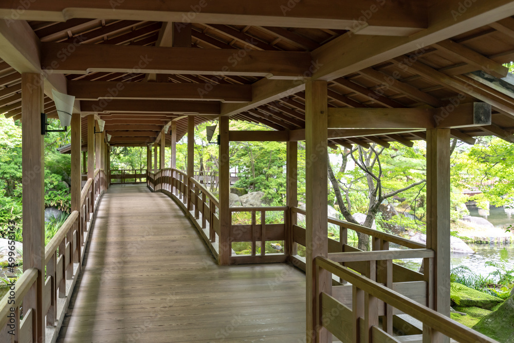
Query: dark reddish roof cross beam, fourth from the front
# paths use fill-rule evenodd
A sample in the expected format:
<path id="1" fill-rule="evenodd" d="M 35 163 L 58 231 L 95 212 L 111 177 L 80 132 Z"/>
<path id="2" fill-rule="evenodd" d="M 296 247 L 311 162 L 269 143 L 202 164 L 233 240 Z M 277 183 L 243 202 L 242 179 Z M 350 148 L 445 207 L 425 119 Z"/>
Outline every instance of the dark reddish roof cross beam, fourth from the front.
<path id="1" fill-rule="evenodd" d="M 219 114 L 219 102 L 216 101 L 175 101 L 175 100 L 121 100 L 101 99 L 84 100 L 81 103 L 83 113 L 132 112 L 132 113 L 173 113 L 173 114 Z"/>

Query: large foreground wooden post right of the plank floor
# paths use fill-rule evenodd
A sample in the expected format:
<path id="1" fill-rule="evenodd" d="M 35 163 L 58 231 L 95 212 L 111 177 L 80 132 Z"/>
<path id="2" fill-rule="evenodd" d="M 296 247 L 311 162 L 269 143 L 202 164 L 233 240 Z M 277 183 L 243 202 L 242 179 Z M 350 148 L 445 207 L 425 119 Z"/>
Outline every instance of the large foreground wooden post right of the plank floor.
<path id="1" fill-rule="evenodd" d="M 314 264 L 317 256 L 328 256 L 327 125 L 326 81 L 307 82 L 305 85 L 305 189 L 307 201 L 305 274 L 308 343 L 332 341 L 332 335 L 329 335 L 328 331 L 322 327 L 319 308 L 320 294 L 331 291 L 332 279 L 326 270 L 321 270 Z"/>

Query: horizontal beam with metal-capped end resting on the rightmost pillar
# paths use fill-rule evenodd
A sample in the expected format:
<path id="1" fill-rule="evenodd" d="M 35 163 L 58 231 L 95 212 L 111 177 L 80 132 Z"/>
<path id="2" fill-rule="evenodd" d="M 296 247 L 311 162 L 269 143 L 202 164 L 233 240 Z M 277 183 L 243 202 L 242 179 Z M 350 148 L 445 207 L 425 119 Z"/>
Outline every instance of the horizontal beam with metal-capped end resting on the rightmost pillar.
<path id="1" fill-rule="evenodd" d="M 466 128 L 491 124 L 491 105 L 485 102 L 448 105 L 439 109 L 328 108 L 331 129 Z"/>

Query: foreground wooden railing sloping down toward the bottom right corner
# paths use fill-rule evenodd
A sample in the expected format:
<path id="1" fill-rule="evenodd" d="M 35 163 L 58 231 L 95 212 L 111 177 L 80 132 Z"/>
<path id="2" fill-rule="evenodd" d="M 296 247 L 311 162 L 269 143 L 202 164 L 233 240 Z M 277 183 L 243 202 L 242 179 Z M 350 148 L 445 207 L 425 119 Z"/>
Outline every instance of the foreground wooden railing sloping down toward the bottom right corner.
<path id="1" fill-rule="evenodd" d="M 415 253 L 420 255 L 418 257 L 433 257 L 432 250 L 416 251 Z M 365 253 L 358 252 L 353 254 L 353 257 L 348 256 L 344 260 L 355 259 L 362 254 Z M 373 256 L 368 256 L 368 258 L 374 262 L 381 259 L 409 258 L 416 254 L 406 254 L 405 251 L 388 251 L 376 254 L 374 251 Z M 361 258 L 359 257 L 357 260 L 361 260 Z M 316 257 L 315 268 L 327 270 L 329 273 L 351 283 L 351 292 L 355 297 L 351 308 L 334 298 L 333 292 L 328 287 L 327 290 L 321 292 L 320 305 L 316 309 L 321 315 L 322 326 L 342 342 L 400 343 L 398 337 L 393 337 L 392 333 L 389 332 L 384 321 L 382 321 L 382 328 L 379 326 L 379 317 L 384 315 L 383 304 L 386 304 L 386 307 L 408 314 L 423 323 L 423 334 L 420 337 L 410 337 L 410 341 L 430 342 L 440 333 L 462 343 L 497 343 L 495 340 L 470 330 L 463 324 L 451 320 L 427 306 L 391 290 L 381 283 L 359 275 L 328 258 Z M 315 284 L 318 284 L 319 273 L 315 274 Z"/>

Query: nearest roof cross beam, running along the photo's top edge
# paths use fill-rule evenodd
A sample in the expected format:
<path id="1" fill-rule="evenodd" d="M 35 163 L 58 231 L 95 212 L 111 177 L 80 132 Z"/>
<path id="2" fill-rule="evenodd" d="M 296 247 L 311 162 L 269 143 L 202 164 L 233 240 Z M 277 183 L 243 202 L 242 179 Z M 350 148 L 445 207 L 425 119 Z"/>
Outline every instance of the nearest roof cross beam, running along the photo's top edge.
<path id="1" fill-rule="evenodd" d="M 104 0 L 53 0 L 31 3 L 19 14 L 23 20 L 54 22 L 71 18 L 131 20 L 138 17 L 156 22 L 353 29 L 361 34 L 392 35 L 409 35 L 427 27 L 425 1 L 373 2 L 371 6 L 356 4 L 353 0 L 305 0 L 281 5 L 274 0 L 261 0 L 234 6 L 231 1 L 147 0 L 115 2 L 113 6 Z M 16 6 L 19 5 L 0 4 L 0 15 L 9 17 Z M 359 24 L 358 20 L 364 23 Z"/>

